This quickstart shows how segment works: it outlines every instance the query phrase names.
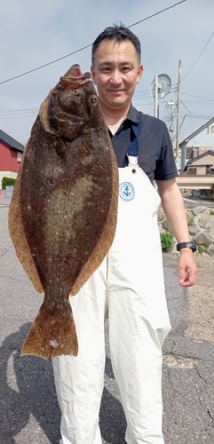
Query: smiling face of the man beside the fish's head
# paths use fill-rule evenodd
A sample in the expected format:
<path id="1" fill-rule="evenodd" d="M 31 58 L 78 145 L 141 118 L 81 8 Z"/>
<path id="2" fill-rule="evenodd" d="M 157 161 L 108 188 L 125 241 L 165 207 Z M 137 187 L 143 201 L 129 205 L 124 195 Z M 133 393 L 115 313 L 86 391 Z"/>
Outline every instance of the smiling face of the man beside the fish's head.
<path id="1" fill-rule="evenodd" d="M 101 107 L 112 110 L 129 107 L 142 73 L 138 54 L 129 40 L 101 42 L 91 67 Z"/>

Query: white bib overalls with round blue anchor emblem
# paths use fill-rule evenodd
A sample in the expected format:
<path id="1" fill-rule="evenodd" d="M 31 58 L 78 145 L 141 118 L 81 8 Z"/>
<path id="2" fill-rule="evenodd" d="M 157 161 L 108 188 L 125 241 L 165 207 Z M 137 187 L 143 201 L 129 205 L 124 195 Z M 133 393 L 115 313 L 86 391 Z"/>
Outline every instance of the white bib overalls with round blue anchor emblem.
<path id="1" fill-rule="evenodd" d="M 130 157 L 119 169 L 115 241 L 99 269 L 70 299 L 79 353 L 52 360 L 62 444 L 101 444 L 104 320 L 128 444 L 162 444 L 162 343 L 170 331 L 157 226 L 160 197 Z"/>

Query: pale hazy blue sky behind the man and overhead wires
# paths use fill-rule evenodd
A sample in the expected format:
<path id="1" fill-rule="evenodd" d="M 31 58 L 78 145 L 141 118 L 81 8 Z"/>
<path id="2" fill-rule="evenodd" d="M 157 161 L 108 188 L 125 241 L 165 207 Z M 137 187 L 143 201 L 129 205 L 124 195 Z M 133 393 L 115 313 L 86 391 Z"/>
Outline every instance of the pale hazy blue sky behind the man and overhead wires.
<path id="1" fill-rule="evenodd" d="M 167 125 L 173 111 L 176 129 L 178 60 L 181 69 L 180 135 L 182 141 L 214 116 L 213 0 L 1 0 L 0 129 L 20 143 L 28 140 L 38 108 L 48 91 L 74 63 L 91 67 L 91 47 L 28 75 L 5 82 L 93 42 L 107 26 L 122 21 L 142 45 L 144 75 L 133 105 L 154 115 L 150 85 L 155 75 L 171 79 L 169 94 L 159 100 Z M 211 37 L 211 38 L 210 38 Z M 210 42 L 209 42 L 210 40 Z"/>

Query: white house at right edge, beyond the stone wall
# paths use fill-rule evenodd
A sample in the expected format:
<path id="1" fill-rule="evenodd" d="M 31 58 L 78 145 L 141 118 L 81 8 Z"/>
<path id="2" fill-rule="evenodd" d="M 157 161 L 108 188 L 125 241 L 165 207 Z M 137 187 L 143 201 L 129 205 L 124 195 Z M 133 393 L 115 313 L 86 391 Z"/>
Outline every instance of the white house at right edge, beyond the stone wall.
<path id="1" fill-rule="evenodd" d="M 179 147 L 181 174 L 214 174 L 214 117 L 183 140 Z"/>

